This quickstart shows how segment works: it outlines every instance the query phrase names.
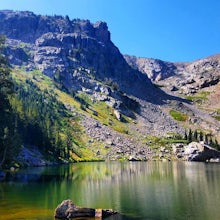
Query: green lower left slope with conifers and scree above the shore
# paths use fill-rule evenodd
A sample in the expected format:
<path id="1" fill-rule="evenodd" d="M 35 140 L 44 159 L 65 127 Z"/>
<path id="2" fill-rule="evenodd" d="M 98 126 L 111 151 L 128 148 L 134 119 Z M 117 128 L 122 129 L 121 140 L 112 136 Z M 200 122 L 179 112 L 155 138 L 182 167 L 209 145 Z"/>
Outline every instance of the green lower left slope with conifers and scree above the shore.
<path id="1" fill-rule="evenodd" d="M 85 95 L 73 98 L 40 72 L 15 69 L 11 75 L 16 86 L 11 104 L 18 114 L 22 140 L 38 146 L 49 160 L 113 160 L 129 158 L 131 153 L 140 159 L 151 156 L 147 146 L 128 134 L 126 125 L 131 120 L 118 121 L 105 103 L 91 102 Z"/>

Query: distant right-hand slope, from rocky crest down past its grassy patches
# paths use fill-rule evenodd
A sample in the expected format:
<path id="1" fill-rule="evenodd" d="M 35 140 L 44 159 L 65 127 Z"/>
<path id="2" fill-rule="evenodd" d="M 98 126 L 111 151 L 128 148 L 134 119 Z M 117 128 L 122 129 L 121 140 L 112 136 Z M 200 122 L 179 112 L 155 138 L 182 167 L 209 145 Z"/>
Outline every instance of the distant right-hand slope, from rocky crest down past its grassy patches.
<path id="1" fill-rule="evenodd" d="M 220 140 L 219 54 L 189 63 L 172 63 L 128 55 L 124 57 L 132 68 L 145 73 L 166 93 L 192 102 L 191 105 L 185 103 L 175 107 L 190 115 L 188 127 L 206 131 Z"/>

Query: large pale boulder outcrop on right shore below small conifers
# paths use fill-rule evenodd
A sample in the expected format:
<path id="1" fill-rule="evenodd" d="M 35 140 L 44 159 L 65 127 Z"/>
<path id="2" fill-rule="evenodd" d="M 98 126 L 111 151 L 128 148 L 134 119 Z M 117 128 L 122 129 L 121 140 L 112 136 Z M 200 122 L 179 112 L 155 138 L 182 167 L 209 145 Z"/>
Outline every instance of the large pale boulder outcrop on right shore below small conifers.
<path id="1" fill-rule="evenodd" d="M 186 146 L 175 144 L 173 145 L 173 152 L 177 158 L 187 161 L 207 162 L 220 157 L 220 151 L 204 144 L 204 142 L 191 142 Z"/>

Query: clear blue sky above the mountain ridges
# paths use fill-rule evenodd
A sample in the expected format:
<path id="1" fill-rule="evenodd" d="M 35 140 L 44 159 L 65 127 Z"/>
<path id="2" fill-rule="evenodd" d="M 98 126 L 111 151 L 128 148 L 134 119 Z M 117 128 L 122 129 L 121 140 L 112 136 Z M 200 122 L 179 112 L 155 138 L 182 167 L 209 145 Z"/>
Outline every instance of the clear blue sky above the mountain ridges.
<path id="1" fill-rule="evenodd" d="M 0 9 L 106 21 L 123 54 L 193 61 L 220 53 L 220 0 L 0 0 Z"/>

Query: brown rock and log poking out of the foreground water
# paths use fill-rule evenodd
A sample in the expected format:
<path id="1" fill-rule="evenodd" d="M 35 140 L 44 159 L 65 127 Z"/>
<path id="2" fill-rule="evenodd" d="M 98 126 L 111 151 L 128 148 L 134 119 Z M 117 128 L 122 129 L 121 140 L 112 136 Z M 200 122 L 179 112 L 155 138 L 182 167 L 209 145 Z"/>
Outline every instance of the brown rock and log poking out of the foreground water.
<path id="1" fill-rule="evenodd" d="M 57 219 L 73 219 L 79 217 L 105 218 L 117 212 L 111 209 L 93 209 L 76 206 L 72 200 L 64 200 L 57 206 L 54 217 Z"/>

